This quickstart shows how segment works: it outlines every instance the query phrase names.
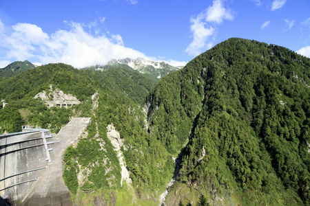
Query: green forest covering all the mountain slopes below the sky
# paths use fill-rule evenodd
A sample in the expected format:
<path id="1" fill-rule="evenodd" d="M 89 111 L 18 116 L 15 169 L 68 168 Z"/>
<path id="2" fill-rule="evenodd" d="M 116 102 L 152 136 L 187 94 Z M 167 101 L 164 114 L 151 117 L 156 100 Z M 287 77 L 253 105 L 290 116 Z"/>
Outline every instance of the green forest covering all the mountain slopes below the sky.
<path id="1" fill-rule="evenodd" d="M 50 85 L 81 104 L 48 108 L 34 99 Z M 166 205 L 310 205 L 309 85 L 309 58 L 241 38 L 158 83 L 128 67 L 50 64 L 0 80 L 8 103 L 0 109 L 0 132 L 28 124 L 58 133 L 71 117 L 92 117 L 64 156 L 63 179 L 77 205 L 94 197 L 107 205 L 158 205 L 173 177 Z M 110 124 L 123 139 L 134 194 L 120 184 Z"/>

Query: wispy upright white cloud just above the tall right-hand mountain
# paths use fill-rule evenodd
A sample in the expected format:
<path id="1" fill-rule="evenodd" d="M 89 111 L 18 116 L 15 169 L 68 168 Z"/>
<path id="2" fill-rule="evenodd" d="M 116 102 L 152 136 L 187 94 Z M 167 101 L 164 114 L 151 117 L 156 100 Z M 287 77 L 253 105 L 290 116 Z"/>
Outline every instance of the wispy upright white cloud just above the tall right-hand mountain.
<path id="1" fill-rule="evenodd" d="M 209 39 L 216 34 L 216 24 L 222 23 L 225 19 L 233 20 L 234 15 L 229 9 L 224 8 L 222 0 L 213 1 L 213 4 L 200 12 L 196 18 L 192 16 L 190 22 L 193 41 L 187 46 L 185 52 L 196 56 L 203 49 L 210 49 L 213 43 Z"/>

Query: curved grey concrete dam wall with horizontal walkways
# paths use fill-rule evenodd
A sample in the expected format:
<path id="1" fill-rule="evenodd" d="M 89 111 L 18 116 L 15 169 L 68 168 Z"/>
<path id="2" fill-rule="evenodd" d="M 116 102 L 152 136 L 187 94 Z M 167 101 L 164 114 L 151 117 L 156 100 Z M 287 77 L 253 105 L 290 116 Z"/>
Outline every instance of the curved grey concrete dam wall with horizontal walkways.
<path id="1" fill-rule="evenodd" d="M 48 165 L 47 152 L 52 144 L 43 143 L 52 137 L 49 130 L 32 130 L 0 135 L 0 196 L 8 201 L 21 200 Z M 14 186 L 16 185 L 16 186 Z"/>

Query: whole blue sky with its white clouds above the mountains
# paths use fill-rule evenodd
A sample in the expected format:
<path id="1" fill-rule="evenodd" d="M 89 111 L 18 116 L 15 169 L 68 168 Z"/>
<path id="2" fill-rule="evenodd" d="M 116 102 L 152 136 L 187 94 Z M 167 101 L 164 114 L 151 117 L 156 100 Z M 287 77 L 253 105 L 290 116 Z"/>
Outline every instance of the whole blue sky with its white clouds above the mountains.
<path id="1" fill-rule="evenodd" d="M 309 0 L 0 0 L 0 68 L 112 58 L 185 65 L 231 37 L 310 57 Z"/>

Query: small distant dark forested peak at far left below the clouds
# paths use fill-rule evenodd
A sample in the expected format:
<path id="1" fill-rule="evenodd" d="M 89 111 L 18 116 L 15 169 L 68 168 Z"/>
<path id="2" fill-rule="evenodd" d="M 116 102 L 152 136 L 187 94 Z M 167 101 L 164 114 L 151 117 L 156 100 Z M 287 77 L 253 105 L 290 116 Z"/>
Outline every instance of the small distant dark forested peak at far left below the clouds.
<path id="1" fill-rule="evenodd" d="M 22 73 L 23 71 L 35 67 L 36 66 L 32 65 L 32 62 L 29 62 L 28 60 L 25 60 L 23 62 L 21 61 L 12 62 L 10 65 L 0 69 L 0 80 L 16 76 L 17 74 Z"/>

